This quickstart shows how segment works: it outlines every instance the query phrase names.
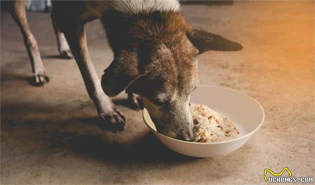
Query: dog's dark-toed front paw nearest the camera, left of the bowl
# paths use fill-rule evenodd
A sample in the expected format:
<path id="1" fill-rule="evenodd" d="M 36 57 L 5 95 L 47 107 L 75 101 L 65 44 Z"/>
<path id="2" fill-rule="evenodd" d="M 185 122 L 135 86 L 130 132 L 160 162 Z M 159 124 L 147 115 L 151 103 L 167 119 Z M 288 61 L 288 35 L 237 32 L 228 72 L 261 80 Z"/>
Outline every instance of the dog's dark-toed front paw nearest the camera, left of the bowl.
<path id="1" fill-rule="evenodd" d="M 104 130 L 110 130 L 112 132 L 123 131 L 123 126 L 125 124 L 125 118 L 121 111 L 114 108 L 111 111 L 106 111 L 105 113 L 100 113 L 99 117 L 102 122 L 98 126 Z"/>

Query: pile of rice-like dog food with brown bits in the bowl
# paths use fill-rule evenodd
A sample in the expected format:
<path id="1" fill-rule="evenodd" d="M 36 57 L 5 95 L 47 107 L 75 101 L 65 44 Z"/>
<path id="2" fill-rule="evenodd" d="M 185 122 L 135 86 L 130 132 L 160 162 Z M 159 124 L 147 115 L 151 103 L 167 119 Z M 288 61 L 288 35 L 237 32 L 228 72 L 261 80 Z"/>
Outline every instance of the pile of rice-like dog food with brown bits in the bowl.
<path id="1" fill-rule="evenodd" d="M 191 104 L 193 119 L 193 142 L 212 143 L 234 139 L 239 131 L 234 123 L 222 118 L 215 111 L 202 104 Z"/>

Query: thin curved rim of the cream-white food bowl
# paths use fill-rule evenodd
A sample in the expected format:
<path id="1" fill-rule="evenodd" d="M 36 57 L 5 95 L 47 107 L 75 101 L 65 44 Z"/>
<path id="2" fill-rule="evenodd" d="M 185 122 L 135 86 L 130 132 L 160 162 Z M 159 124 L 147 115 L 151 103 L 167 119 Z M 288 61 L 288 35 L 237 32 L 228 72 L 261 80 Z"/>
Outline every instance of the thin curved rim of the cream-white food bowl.
<path id="1" fill-rule="evenodd" d="M 247 134 L 245 134 L 245 135 L 243 135 L 243 136 L 241 136 L 241 137 L 234 138 L 234 139 L 227 140 L 227 141 L 219 141 L 219 142 L 213 142 L 213 143 L 198 143 L 198 142 L 182 141 L 182 140 L 177 140 L 177 139 L 174 139 L 174 138 L 165 136 L 165 135 L 163 135 L 163 134 L 161 134 L 161 133 L 159 133 L 159 132 L 153 130 L 153 129 L 146 123 L 145 118 L 144 118 L 144 111 L 146 111 L 147 113 L 148 113 L 148 111 L 147 111 L 147 109 L 143 108 L 143 111 L 142 111 L 142 118 L 143 118 L 143 121 L 144 121 L 145 125 L 146 125 L 152 132 L 154 132 L 154 133 L 156 133 L 156 134 L 158 134 L 158 135 L 160 135 L 160 136 L 162 136 L 162 137 L 166 137 L 166 138 L 168 138 L 168 139 L 174 140 L 174 141 L 178 141 L 178 142 L 182 142 L 182 143 L 189 143 L 189 144 L 197 144 L 197 145 L 218 145 L 218 144 L 230 143 L 230 142 L 234 142 L 234 141 L 241 140 L 241 139 L 246 138 L 246 137 L 250 137 L 250 136 L 251 136 L 252 134 L 254 134 L 254 133 L 261 127 L 261 125 L 263 124 L 265 115 L 264 115 L 264 110 L 263 110 L 262 106 L 260 105 L 260 103 L 259 103 L 257 100 L 255 100 L 255 99 L 252 98 L 251 96 L 247 95 L 246 93 L 237 91 L 237 90 L 232 89 L 232 88 L 219 87 L 219 86 L 214 86 L 214 85 L 199 85 L 198 87 L 215 87 L 215 88 L 221 88 L 221 89 L 226 89 L 226 90 L 230 90 L 230 91 L 235 91 L 235 92 L 237 92 L 237 93 L 240 93 L 240 94 L 243 94 L 243 95 L 249 97 L 250 99 L 252 99 L 252 100 L 259 106 L 259 108 L 260 108 L 261 111 L 262 111 L 262 120 L 261 120 L 261 123 L 260 123 L 260 124 L 258 125 L 258 127 L 256 127 L 253 131 L 251 131 L 251 132 L 249 132 L 249 133 L 247 133 Z M 197 87 L 197 88 L 198 88 L 198 87 Z M 152 122 L 153 122 L 153 121 L 152 121 Z"/>

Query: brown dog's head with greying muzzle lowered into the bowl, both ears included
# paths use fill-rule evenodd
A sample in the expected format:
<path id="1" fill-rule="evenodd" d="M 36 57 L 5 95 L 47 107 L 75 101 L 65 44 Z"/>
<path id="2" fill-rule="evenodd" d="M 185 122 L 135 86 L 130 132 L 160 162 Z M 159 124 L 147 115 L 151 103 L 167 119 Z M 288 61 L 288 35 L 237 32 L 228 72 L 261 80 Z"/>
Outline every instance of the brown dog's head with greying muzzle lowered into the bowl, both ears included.
<path id="1" fill-rule="evenodd" d="M 158 132 L 189 141 L 193 138 L 189 95 L 199 81 L 197 54 L 206 50 L 235 51 L 242 46 L 192 29 L 178 13 L 158 16 L 129 21 L 131 25 L 124 34 L 128 47 L 119 47 L 108 38 L 114 46 L 114 60 L 105 69 L 101 84 L 108 96 L 126 88 L 139 94 Z M 110 34 L 107 30 L 108 37 L 114 37 Z"/>

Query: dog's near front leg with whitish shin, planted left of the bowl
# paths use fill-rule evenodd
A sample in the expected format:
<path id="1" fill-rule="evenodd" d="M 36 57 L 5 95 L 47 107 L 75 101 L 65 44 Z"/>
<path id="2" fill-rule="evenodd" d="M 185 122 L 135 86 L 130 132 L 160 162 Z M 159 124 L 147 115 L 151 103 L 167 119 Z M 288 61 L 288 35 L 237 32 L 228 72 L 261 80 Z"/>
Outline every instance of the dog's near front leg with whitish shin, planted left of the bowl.
<path id="1" fill-rule="evenodd" d="M 82 74 L 88 95 L 93 100 L 98 115 L 105 122 L 101 127 L 114 132 L 122 131 L 125 118 L 101 88 L 88 54 L 83 25 L 73 23 L 73 25 L 68 25 L 63 32 Z"/>

